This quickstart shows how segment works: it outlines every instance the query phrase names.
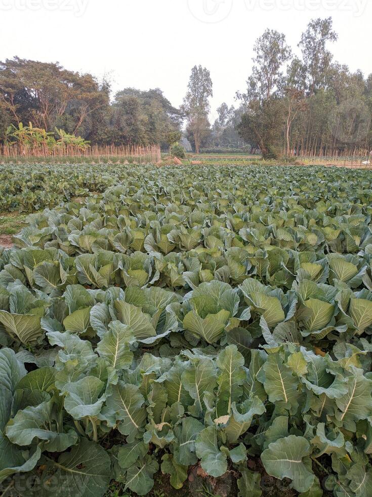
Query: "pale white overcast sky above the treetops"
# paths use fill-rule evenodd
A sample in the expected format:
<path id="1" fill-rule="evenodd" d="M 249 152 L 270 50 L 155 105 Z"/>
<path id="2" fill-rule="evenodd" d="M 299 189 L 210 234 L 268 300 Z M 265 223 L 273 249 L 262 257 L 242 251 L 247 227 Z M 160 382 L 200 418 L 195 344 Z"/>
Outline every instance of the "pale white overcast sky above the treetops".
<path id="1" fill-rule="evenodd" d="M 0 60 L 18 55 L 111 75 L 113 90 L 159 87 L 178 107 L 191 67 L 214 83 L 212 118 L 245 89 L 252 48 L 265 28 L 296 50 L 314 17 L 332 16 L 335 59 L 372 73 L 368 0 L 0 0 Z"/>

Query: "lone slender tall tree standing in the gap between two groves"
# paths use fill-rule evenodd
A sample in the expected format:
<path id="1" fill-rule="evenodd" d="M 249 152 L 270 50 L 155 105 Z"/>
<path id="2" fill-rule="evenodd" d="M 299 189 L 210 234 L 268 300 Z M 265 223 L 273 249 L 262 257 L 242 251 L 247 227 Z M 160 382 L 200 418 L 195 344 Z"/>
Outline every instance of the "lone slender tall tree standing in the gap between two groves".
<path id="1" fill-rule="evenodd" d="M 187 128 L 198 154 L 203 137 L 210 132 L 208 114 L 209 98 L 213 96 L 211 74 L 205 67 L 194 66 L 191 70 L 188 91 L 183 100 L 182 110 L 187 119 Z"/>

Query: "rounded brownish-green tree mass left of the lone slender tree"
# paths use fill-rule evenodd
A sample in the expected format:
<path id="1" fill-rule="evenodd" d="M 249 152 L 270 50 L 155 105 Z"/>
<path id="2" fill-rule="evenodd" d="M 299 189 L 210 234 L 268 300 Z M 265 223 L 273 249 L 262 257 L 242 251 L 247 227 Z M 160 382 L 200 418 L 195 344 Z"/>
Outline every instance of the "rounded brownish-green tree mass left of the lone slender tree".
<path id="1" fill-rule="evenodd" d="M 182 113 L 159 89 L 126 88 L 111 100 L 108 81 L 80 75 L 58 63 L 15 57 L 0 63 L 0 136 L 32 122 L 78 134 L 92 144 L 163 144 L 180 129 Z"/>

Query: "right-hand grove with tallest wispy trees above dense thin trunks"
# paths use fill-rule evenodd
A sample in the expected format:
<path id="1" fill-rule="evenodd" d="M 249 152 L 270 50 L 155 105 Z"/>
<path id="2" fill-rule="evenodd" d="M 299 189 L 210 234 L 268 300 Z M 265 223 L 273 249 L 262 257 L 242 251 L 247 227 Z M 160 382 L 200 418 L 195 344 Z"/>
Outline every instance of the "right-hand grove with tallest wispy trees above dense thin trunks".
<path id="1" fill-rule="evenodd" d="M 257 40 L 239 130 L 264 156 L 367 154 L 372 148 L 372 75 L 333 60 L 332 18 L 314 19 L 301 36 L 301 56 L 285 35 Z"/>

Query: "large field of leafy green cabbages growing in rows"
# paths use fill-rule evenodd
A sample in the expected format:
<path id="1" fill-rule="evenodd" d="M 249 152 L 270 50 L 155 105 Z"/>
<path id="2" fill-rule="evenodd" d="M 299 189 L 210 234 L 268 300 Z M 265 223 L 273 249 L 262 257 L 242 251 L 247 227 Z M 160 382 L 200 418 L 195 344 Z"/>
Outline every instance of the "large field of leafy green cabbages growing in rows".
<path id="1" fill-rule="evenodd" d="M 4 495 L 370 497 L 371 171 L 53 167 L 0 248 Z"/>

